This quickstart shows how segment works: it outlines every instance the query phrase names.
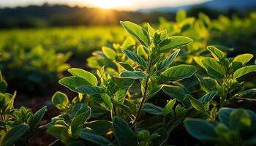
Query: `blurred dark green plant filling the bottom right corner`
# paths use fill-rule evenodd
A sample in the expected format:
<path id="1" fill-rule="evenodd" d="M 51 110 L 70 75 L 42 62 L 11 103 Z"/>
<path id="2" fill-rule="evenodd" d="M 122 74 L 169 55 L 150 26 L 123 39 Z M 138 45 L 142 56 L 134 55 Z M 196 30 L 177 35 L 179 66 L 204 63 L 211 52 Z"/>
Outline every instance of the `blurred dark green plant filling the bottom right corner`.
<path id="1" fill-rule="evenodd" d="M 189 134 L 216 145 L 256 145 L 256 114 L 251 110 L 221 108 L 219 121 L 187 118 Z"/>

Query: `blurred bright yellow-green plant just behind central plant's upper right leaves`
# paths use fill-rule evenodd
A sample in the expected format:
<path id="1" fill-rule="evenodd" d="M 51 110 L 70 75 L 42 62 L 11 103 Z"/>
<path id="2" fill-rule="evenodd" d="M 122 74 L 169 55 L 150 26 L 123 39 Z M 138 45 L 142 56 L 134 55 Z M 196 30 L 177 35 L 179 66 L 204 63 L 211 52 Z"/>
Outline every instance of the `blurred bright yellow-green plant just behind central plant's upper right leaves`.
<path id="1" fill-rule="evenodd" d="M 187 17 L 187 12 L 181 9 L 176 14 L 175 22 L 159 18 L 159 28 L 167 29 L 170 35 L 182 35 L 193 39 L 192 44 L 181 50 L 178 61 L 192 64 L 194 56 L 207 53 L 206 46 L 210 43 L 212 23 L 202 12 L 198 14 L 198 18 Z"/>

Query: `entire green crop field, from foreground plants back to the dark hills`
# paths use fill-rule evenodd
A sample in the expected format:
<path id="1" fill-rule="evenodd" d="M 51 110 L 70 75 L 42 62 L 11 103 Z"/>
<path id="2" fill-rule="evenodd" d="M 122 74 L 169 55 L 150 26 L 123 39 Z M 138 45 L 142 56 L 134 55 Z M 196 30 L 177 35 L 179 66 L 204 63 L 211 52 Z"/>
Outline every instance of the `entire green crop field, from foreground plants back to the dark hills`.
<path id="1" fill-rule="evenodd" d="M 0 30 L 0 145 L 256 145 L 256 12 Z"/>

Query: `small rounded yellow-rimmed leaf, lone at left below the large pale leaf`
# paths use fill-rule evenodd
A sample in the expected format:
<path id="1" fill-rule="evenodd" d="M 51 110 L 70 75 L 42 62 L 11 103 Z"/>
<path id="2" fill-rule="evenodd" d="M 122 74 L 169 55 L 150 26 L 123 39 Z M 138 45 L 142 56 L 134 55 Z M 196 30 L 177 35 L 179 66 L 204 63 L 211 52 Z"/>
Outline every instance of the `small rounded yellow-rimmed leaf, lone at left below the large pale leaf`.
<path id="1" fill-rule="evenodd" d="M 54 93 L 51 101 L 55 105 L 55 107 L 57 107 L 61 111 L 66 110 L 67 106 L 69 105 L 69 99 L 67 98 L 67 95 L 59 91 Z"/>

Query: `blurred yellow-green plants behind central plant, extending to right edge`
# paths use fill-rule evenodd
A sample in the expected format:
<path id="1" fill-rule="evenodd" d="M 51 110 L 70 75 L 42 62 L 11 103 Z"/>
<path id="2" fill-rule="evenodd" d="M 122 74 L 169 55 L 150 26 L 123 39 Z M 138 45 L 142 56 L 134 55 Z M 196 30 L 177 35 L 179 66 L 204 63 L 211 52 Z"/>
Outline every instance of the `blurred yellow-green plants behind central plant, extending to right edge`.
<path id="1" fill-rule="evenodd" d="M 192 64 L 193 57 L 209 55 L 206 47 L 214 45 L 221 50 L 239 53 L 252 53 L 255 51 L 255 12 L 245 18 L 238 18 L 233 15 L 228 18 L 219 15 L 216 20 L 211 20 L 208 15 L 199 12 L 196 17 L 187 17 L 184 10 L 179 10 L 176 14 L 176 21 L 167 21 L 159 18 L 159 28 L 167 29 L 167 34 L 182 35 L 192 38 L 194 42 L 180 53 L 178 61 Z M 225 40 L 225 41 L 223 41 Z M 241 50 L 241 48 L 243 48 Z"/>

